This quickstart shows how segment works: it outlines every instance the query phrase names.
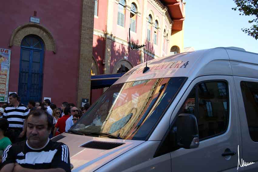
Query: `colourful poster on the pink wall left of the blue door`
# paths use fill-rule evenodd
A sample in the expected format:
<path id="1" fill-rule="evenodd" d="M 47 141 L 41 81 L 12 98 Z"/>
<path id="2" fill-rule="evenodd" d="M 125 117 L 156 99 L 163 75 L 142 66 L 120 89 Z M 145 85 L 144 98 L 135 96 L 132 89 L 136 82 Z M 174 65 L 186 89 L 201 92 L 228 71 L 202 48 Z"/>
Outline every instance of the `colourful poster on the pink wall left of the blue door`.
<path id="1" fill-rule="evenodd" d="M 0 102 L 8 101 L 11 50 L 0 48 Z"/>

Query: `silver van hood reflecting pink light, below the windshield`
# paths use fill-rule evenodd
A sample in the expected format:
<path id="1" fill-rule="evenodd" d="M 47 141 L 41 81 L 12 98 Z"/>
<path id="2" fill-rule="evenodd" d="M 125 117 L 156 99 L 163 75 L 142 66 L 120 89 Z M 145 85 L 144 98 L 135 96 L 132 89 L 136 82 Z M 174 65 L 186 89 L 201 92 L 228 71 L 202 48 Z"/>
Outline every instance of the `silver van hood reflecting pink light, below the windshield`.
<path id="1" fill-rule="evenodd" d="M 110 139 L 107 137 L 81 136 L 69 133 L 62 133 L 57 137 L 63 137 L 62 139 L 57 140 L 57 142 L 62 142 L 69 148 L 70 163 L 73 164 L 72 171 L 97 170 L 109 161 L 145 142 L 140 140 L 123 140 Z M 55 140 L 57 137 L 55 137 L 53 140 Z M 95 141 L 91 144 L 92 146 L 97 146 L 95 143 L 99 142 L 107 142 L 111 144 L 122 143 L 122 145 L 109 150 L 83 147 L 83 145 L 86 143 L 91 143 L 92 141 Z"/>

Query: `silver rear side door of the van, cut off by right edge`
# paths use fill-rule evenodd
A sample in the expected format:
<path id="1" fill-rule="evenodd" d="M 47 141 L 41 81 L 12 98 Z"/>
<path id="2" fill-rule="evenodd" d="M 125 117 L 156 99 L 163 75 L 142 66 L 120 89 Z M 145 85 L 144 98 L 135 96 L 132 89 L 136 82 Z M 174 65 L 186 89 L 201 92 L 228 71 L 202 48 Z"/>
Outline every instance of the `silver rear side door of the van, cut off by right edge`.
<path id="1" fill-rule="evenodd" d="M 258 171 L 258 79 L 234 77 L 243 142 L 239 171 Z M 242 160 L 249 163 L 242 166 Z M 254 164 L 253 164 L 254 163 Z"/>

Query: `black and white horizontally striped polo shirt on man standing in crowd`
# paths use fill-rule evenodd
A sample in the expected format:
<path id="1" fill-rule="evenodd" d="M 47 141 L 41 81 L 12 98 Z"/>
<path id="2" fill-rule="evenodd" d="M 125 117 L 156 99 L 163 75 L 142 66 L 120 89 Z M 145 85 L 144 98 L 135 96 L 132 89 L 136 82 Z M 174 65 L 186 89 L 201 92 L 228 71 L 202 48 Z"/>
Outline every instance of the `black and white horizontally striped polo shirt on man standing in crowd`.
<path id="1" fill-rule="evenodd" d="M 10 128 L 23 128 L 24 119 L 27 118 L 29 111 L 25 105 L 19 104 L 18 107 L 10 105 L 5 108 L 3 118 L 6 118 L 9 122 Z"/>

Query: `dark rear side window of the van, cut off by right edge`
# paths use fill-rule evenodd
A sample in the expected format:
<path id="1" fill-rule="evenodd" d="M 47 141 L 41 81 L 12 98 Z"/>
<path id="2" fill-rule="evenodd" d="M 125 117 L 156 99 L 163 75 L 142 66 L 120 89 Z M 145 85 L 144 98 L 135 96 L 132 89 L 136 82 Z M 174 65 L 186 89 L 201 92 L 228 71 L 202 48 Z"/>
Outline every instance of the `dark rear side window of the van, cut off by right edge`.
<path id="1" fill-rule="evenodd" d="M 258 83 L 241 81 L 240 83 L 249 134 L 254 142 L 258 142 Z"/>

